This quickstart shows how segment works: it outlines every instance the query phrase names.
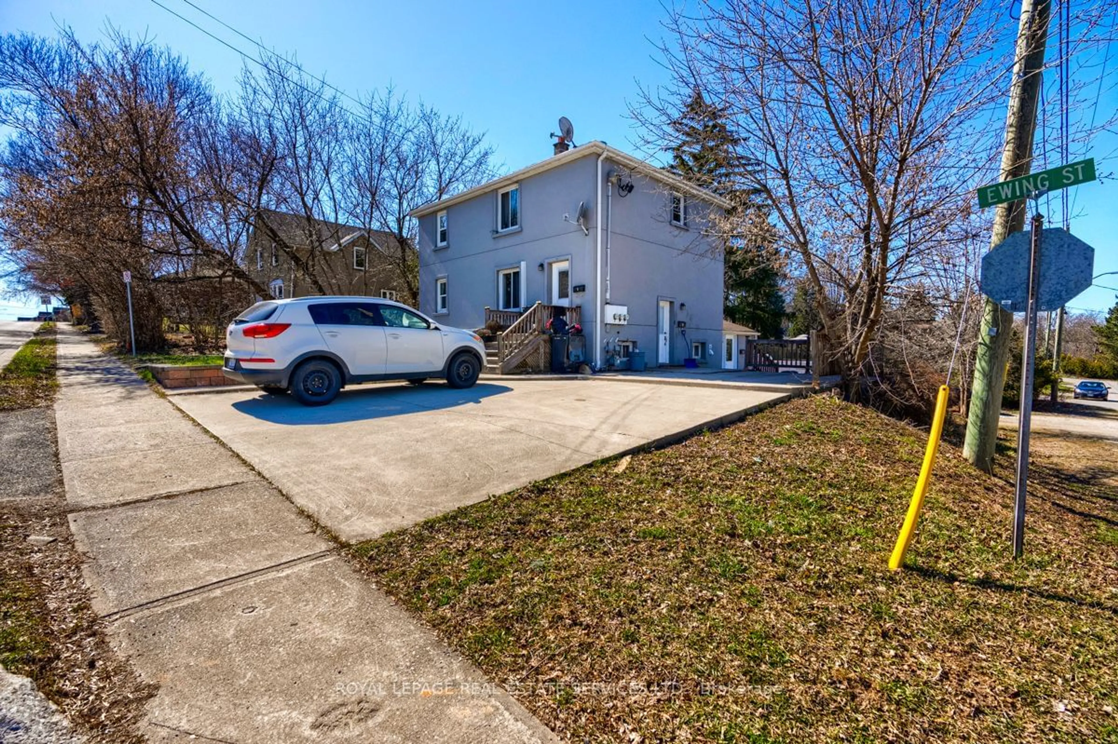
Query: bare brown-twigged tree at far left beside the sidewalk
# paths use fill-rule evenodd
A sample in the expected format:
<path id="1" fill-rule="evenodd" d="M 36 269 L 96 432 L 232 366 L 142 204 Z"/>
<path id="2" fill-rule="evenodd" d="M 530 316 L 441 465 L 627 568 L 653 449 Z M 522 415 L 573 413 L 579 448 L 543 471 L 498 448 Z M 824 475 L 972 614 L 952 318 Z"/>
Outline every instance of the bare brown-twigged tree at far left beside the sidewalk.
<path id="1" fill-rule="evenodd" d="M 215 160 L 228 154 L 214 139 L 222 114 L 181 59 L 115 31 L 88 46 L 68 30 L 8 36 L 0 86 L 0 121 L 17 130 L 0 229 L 26 284 L 88 297 L 123 337 L 130 270 L 144 347 L 162 344 L 167 287 L 252 284 L 243 220 L 222 198 L 229 168 Z"/>

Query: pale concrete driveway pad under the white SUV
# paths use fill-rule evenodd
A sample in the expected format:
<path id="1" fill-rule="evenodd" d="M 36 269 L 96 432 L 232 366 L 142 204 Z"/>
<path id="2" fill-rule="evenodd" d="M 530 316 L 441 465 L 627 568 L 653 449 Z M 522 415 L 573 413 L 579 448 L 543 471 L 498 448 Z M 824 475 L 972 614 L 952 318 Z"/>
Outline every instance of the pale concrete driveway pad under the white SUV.
<path id="1" fill-rule="evenodd" d="M 470 390 L 360 385 L 322 408 L 256 391 L 171 400 L 340 538 L 356 542 L 727 423 L 798 390 L 491 379 Z"/>

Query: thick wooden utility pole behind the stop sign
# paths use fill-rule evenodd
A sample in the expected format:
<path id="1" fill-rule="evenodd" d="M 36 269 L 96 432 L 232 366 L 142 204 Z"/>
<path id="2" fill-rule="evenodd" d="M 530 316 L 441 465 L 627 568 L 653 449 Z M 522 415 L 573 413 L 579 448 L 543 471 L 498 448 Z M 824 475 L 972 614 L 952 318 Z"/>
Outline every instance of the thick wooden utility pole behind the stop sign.
<path id="1" fill-rule="evenodd" d="M 1051 10 L 1051 0 L 1021 0 L 1021 26 L 1017 29 L 1010 111 L 1005 118 L 1005 146 L 1002 150 L 1003 181 L 1027 175 L 1032 166 L 1036 104 L 1040 99 L 1044 42 Z M 996 207 L 991 248 L 1011 233 L 1024 229 L 1027 207 L 1024 199 Z M 1005 387 L 1005 364 L 1010 355 L 1012 328 L 1013 313 L 986 298 L 975 355 L 970 412 L 967 417 L 963 454 L 973 465 L 987 473 L 994 465 L 997 419 L 1002 412 L 1002 390 Z"/>

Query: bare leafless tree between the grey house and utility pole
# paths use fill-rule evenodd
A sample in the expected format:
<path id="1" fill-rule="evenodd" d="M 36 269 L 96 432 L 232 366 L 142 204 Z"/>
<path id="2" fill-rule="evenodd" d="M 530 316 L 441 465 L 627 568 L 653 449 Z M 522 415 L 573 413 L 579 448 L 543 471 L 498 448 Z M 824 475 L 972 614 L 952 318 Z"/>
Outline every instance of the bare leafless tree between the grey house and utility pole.
<path id="1" fill-rule="evenodd" d="M 729 0 L 672 12 L 673 84 L 637 111 L 660 135 L 694 90 L 724 108 L 738 179 L 773 207 L 856 394 L 894 286 L 955 252 L 983 114 L 1004 87 L 986 0 Z"/>

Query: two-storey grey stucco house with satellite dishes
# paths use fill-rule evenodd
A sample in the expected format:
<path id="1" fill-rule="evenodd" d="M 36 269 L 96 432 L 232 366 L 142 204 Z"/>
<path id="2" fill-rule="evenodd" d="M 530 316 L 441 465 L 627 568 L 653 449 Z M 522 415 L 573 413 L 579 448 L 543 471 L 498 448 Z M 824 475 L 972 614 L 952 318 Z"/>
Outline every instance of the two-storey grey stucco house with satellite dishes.
<path id="1" fill-rule="evenodd" d="M 419 308 L 472 328 L 536 303 L 548 317 L 577 307 L 599 368 L 634 349 L 653 366 L 721 365 L 722 251 L 710 228 L 726 202 L 604 142 L 555 150 L 411 212 Z"/>

